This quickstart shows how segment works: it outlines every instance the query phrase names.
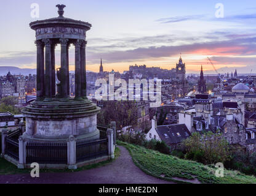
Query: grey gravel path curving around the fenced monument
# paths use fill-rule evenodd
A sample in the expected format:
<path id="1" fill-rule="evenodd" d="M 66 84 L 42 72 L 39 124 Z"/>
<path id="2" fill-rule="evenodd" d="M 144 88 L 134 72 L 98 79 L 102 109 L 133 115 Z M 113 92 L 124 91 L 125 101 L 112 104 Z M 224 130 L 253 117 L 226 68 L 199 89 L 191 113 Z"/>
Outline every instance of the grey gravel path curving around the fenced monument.
<path id="1" fill-rule="evenodd" d="M 42 184 L 172 184 L 172 182 L 146 175 L 134 165 L 132 157 L 123 146 L 118 159 L 102 167 L 78 172 L 40 173 L 39 178 L 31 178 L 30 173 L 0 175 L 0 184 L 42 183 Z"/>

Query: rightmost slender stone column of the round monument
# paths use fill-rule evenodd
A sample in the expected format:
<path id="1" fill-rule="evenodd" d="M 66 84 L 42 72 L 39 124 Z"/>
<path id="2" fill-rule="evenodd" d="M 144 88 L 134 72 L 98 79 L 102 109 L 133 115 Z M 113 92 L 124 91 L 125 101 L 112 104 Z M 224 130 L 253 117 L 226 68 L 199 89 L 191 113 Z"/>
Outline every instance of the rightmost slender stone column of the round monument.
<path id="1" fill-rule="evenodd" d="M 86 96 L 86 41 L 82 41 L 81 44 L 81 92 L 83 99 L 87 99 Z"/>

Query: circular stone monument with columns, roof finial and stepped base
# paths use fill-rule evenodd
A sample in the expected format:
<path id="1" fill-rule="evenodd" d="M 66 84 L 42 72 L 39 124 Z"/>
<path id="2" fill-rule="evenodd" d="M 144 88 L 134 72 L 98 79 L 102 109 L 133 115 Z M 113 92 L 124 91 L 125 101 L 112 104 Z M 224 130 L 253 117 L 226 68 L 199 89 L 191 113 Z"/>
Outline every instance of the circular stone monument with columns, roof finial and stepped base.
<path id="1" fill-rule="evenodd" d="M 86 31 L 91 25 L 63 17 L 64 5 L 57 5 L 58 17 L 30 23 L 36 31 L 37 98 L 22 112 L 26 116 L 28 141 L 62 141 L 73 135 L 79 140 L 99 138 L 97 113 L 86 97 Z M 61 45 L 61 67 L 55 72 L 55 46 Z M 68 49 L 75 47 L 75 97 L 70 97 Z M 55 91 L 56 78 L 58 81 Z"/>

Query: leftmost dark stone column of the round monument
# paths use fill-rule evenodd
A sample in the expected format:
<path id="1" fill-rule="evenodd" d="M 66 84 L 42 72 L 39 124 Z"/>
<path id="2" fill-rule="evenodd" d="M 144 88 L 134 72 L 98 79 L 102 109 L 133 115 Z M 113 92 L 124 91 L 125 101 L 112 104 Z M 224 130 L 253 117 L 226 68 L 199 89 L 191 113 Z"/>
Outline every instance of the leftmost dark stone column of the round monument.
<path id="1" fill-rule="evenodd" d="M 36 99 L 44 99 L 44 44 L 36 40 Z"/>

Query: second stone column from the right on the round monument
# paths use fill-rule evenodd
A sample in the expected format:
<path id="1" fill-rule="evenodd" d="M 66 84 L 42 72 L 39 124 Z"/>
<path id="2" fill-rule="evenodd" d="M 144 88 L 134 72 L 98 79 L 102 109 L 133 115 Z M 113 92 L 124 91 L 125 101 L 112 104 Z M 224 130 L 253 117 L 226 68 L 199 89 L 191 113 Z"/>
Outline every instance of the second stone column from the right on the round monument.
<path id="1" fill-rule="evenodd" d="M 74 43 L 74 50 L 75 50 L 75 99 L 81 100 L 82 99 L 82 80 L 81 80 L 81 40 L 77 40 Z"/>

